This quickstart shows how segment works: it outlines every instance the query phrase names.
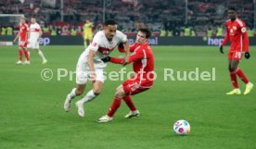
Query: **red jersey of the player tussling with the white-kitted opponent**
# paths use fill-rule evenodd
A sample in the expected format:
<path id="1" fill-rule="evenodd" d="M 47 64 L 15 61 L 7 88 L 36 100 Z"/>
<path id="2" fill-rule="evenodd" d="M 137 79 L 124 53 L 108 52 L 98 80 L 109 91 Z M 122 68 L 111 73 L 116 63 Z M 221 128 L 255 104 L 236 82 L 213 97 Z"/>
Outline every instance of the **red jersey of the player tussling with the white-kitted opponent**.
<path id="1" fill-rule="evenodd" d="M 134 43 L 130 46 L 130 51 L 133 53 L 129 57 L 129 63 L 133 62 L 135 80 L 138 80 L 139 82 L 147 81 L 147 85 L 152 86 L 154 79 L 154 56 L 148 43 L 143 43 L 141 45 Z M 112 57 L 110 61 L 118 64 L 123 63 L 122 58 Z"/>

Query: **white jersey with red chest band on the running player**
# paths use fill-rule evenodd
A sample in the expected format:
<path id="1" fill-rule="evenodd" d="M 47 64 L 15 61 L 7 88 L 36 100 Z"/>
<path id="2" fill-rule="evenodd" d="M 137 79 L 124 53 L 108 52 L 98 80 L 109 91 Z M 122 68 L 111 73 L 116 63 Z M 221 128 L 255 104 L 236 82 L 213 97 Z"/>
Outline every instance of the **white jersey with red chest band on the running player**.
<path id="1" fill-rule="evenodd" d="M 109 56 L 119 43 L 125 42 L 127 42 L 127 36 L 123 34 L 122 31 L 116 31 L 116 34 L 110 42 L 104 31 L 98 31 L 93 42 L 85 49 L 82 55 L 84 58 L 87 58 L 90 50 L 96 51 L 96 56 L 94 57 L 95 68 L 105 68 L 107 64 L 101 59 Z"/>

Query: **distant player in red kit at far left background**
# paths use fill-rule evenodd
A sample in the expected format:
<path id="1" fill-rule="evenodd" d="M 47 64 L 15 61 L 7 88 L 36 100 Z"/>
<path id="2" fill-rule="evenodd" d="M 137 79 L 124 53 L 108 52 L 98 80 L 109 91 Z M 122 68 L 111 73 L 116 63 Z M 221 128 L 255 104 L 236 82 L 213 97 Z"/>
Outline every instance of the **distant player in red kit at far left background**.
<path id="1" fill-rule="evenodd" d="M 29 26 L 26 24 L 25 18 L 20 18 L 20 24 L 19 24 L 19 33 L 14 39 L 14 43 L 19 38 L 19 61 L 16 64 L 22 64 L 22 52 L 24 52 L 24 55 L 26 56 L 25 64 L 30 64 L 30 57 L 29 52 L 27 50 L 27 44 L 28 44 L 28 33 L 29 33 Z"/>

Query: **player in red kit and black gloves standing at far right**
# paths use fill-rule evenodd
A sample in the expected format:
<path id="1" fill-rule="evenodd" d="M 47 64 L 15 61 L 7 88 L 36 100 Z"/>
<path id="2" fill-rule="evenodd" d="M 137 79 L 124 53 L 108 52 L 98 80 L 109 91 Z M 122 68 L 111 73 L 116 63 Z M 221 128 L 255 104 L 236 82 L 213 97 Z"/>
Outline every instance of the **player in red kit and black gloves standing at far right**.
<path id="1" fill-rule="evenodd" d="M 234 90 L 226 94 L 241 94 L 237 84 L 237 76 L 246 83 L 244 94 L 248 94 L 253 88 L 253 84 L 248 80 L 242 69 L 238 68 L 243 53 L 245 53 L 245 58 L 250 58 L 249 38 L 247 35 L 246 24 L 241 19 L 237 18 L 237 10 L 234 7 L 228 9 L 228 17 L 229 19 L 225 23 L 226 35 L 220 46 L 220 52 L 224 53 L 223 46 L 230 40 L 231 46 L 228 52 L 228 68 Z"/>

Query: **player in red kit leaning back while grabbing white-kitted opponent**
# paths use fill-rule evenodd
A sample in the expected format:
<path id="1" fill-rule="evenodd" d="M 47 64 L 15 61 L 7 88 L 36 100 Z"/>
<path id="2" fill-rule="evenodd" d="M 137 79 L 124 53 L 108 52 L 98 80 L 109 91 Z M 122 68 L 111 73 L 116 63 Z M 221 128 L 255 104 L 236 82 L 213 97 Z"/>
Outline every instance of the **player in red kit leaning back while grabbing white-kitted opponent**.
<path id="1" fill-rule="evenodd" d="M 109 122 L 113 119 L 117 109 L 121 106 L 122 99 L 130 108 L 130 112 L 124 118 L 139 117 L 139 111 L 134 106 L 130 95 L 142 93 L 150 89 L 154 80 L 154 56 L 152 50 L 148 46 L 147 40 L 151 32 L 147 29 L 140 29 L 136 36 L 136 43 L 130 46 L 129 63 L 133 63 L 134 77 L 124 81 L 116 89 L 113 103 L 109 108 L 106 116 L 98 118 L 98 122 Z M 121 50 L 120 50 L 121 51 Z M 122 58 L 106 57 L 102 59 L 104 62 L 123 64 Z"/>

